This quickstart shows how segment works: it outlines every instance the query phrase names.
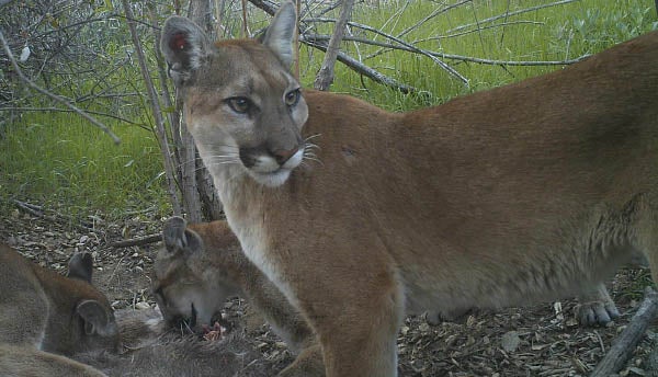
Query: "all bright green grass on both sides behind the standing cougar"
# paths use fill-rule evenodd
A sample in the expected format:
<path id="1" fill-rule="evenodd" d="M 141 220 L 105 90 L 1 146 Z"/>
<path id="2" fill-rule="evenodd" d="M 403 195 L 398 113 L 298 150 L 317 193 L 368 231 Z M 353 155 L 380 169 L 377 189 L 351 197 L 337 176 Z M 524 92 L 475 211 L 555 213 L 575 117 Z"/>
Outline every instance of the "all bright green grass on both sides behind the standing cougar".
<path id="1" fill-rule="evenodd" d="M 594 54 L 611 45 L 657 28 L 654 0 L 582 0 L 567 5 L 546 8 L 510 16 L 504 27 L 454 37 L 449 31 L 464 24 L 503 14 L 508 10 L 530 8 L 546 1 L 479 0 L 441 14 L 405 36 L 407 41 L 426 41 L 420 46 L 434 52 L 500 60 L 563 60 Z M 381 9 L 355 9 L 353 21 L 396 35 L 430 14 L 438 2 L 388 1 Z M 384 2 L 383 2 L 384 4 Z M 333 14 L 336 16 L 336 14 Z M 318 33 L 328 34 L 331 24 Z M 352 28 L 356 36 L 373 35 Z M 454 33 L 453 33 L 454 34 Z M 383 42 L 382 37 L 377 41 Z M 453 65 L 468 78 L 469 87 L 451 78 L 429 58 L 400 52 L 372 56 L 379 47 L 344 43 L 352 56 L 399 82 L 416 87 L 428 95 L 404 95 L 363 79 L 342 65 L 337 65 L 336 92 L 363 98 L 392 111 L 404 111 L 438 104 L 456 95 L 501 85 L 537 76 L 559 66 L 501 67 L 473 62 Z M 311 87 L 322 55 L 303 48 L 300 53 L 305 87 Z M 135 70 L 135 82 L 140 79 Z M 139 106 L 139 104 L 136 104 Z M 168 197 L 161 178 L 162 163 L 154 135 L 135 126 L 115 126 L 122 138 L 115 146 L 111 139 L 82 118 L 71 114 L 27 113 L 10 125 L 0 139 L 0 198 L 29 199 L 38 204 L 63 206 L 69 214 L 101 213 L 109 217 L 156 206 L 169 213 Z M 7 203 L 7 201 L 4 201 Z"/>

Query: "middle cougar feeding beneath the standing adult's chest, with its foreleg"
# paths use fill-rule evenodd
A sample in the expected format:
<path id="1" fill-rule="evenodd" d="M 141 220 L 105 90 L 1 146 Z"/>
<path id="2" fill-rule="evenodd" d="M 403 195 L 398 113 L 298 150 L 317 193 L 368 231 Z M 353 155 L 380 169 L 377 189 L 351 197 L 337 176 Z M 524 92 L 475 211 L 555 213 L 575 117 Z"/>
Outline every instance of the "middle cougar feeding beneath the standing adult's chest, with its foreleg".
<path id="1" fill-rule="evenodd" d="M 230 296 L 247 298 L 298 354 L 317 343 L 313 330 L 276 286 L 242 253 L 226 221 L 188 225 L 172 217 L 162 229 L 163 248 L 154 263 L 156 301 L 169 322 L 193 318 L 196 329 L 212 325 Z M 321 355 L 306 350 L 284 375 L 317 376 Z M 313 354 L 313 355 L 311 355 Z M 304 361 L 303 361 L 304 359 Z M 305 363 L 305 366 L 299 364 Z M 304 373 L 302 373 L 304 370 Z M 319 374 L 322 375 L 322 374 Z"/>

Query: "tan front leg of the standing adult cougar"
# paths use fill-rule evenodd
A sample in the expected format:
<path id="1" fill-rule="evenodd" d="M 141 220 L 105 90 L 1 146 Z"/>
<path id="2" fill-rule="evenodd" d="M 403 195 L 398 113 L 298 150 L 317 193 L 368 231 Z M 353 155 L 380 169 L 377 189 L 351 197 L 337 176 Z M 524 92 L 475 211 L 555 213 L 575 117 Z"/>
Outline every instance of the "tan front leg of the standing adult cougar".
<path id="1" fill-rule="evenodd" d="M 397 376 L 397 333 L 404 317 L 404 294 L 395 272 L 363 264 L 341 272 L 341 281 L 306 292 L 300 305 L 322 347 L 328 377 Z M 368 270 L 368 271 L 364 271 Z M 382 271 L 382 270 L 379 270 Z M 324 276 L 311 276 L 322 281 Z M 328 277 L 328 276 L 327 276 Z M 328 277 L 331 278 L 331 277 Z M 327 281 L 325 281 L 327 282 Z"/>

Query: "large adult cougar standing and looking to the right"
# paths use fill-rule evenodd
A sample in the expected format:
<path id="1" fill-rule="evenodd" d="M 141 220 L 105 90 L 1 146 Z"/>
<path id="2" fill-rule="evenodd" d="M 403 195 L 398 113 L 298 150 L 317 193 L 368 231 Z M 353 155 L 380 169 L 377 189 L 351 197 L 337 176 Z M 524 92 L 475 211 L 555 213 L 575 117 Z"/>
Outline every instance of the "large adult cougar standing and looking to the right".
<path id="1" fill-rule="evenodd" d="M 262 43 L 170 18 L 161 49 L 231 229 L 329 376 L 395 376 L 406 308 L 587 294 L 636 251 L 658 282 L 658 33 L 394 114 L 299 88 L 294 9 Z"/>

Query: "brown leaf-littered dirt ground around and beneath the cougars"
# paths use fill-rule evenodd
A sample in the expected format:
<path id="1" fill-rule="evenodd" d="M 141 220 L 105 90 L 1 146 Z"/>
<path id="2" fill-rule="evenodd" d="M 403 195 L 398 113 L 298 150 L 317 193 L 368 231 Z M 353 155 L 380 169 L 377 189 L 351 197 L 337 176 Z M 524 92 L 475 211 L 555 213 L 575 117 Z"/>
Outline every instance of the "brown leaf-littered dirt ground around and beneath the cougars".
<path id="1" fill-rule="evenodd" d="M 94 283 L 115 309 L 155 306 L 149 274 L 159 242 L 113 248 L 113 242 L 159 231 L 161 219 L 136 214 L 122 224 L 90 219 L 92 229 L 12 208 L 0 214 L 0 242 L 37 263 L 64 272 L 73 251 L 94 256 Z M 574 300 L 478 313 L 464 323 L 430 325 L 422 317 L 406 319 L 398 338 L 400 376 L 587 376 L 625 328 L 642 301 L 648 271 L 624 269 L 610 284 L 622 317 L 606 328 L 581 328 Z M 364 313 L 367 316 L 367 313 Z M 223 318 L 230 331 L 242 331 L 251 347 L 269 361 L 272 373 L 292 361 L 285 345 L 251 313 L 248 302 L 232 299 Z M 648 356 L 658 336 L 655 323 L 621 376 L 653 375 Z"/>

